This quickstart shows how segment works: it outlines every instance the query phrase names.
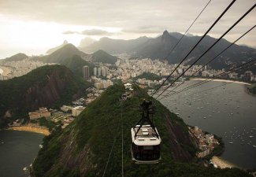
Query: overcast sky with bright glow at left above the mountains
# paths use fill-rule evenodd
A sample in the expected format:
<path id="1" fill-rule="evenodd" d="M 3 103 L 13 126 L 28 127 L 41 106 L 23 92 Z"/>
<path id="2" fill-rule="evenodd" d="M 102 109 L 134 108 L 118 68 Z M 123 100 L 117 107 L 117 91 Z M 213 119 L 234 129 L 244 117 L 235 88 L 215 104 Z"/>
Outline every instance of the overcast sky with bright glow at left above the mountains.
<path id="1" fill-rule="evenodd" d="M 0 0 L 0 58 L 45 53 L 65 39 L 135 39 L 163 31 L 183 33 L 209 0 Z M 231 0 L 212 0 L 189 33 L 202 35 Z M 237 0 L 210 31 L 217 38 L 254 5 Z M 256 9 L 225 39 L 232 42 L 256 24 Z M 239 41 L 256 46 L 256 29 Z"/>

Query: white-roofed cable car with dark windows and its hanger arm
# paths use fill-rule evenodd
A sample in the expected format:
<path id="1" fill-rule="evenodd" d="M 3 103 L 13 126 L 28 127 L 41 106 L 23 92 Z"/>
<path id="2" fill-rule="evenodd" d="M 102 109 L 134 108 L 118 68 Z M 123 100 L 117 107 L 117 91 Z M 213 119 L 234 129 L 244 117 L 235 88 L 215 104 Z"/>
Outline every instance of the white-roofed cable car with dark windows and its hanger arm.
<path id="1" fill-rule="evenodd" d="M 136 164 L 155 164 L 161 159 L 161 138 L 149 115 L 154 114 L 151 101 L 143 101 L 140 105 L 142 118 L 132 127 L 132 160 Z"/>

